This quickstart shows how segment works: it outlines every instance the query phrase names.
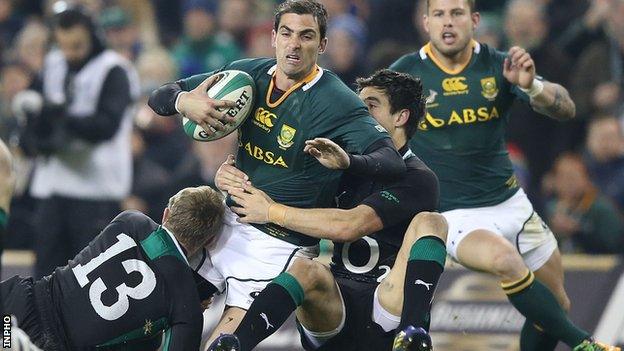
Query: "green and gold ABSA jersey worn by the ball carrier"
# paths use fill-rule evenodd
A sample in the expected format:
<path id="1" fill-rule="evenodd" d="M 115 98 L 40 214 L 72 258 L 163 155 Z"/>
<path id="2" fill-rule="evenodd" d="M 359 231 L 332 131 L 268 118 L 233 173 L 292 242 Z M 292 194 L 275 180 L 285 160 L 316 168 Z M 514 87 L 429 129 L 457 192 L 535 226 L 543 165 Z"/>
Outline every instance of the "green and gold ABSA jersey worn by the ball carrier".
<path id="1" fill-rule="evenodd" d="M 249 73 L 256 82 L 252 114 L 239 128 L 236 166 L 273 200 L 300 208 L 331 207 L 342 172 L 323 167 L 305 154 L 305 141 L 329 138 L 354 154 L 363 153 L 385 130 L 359 97 L 330 71 L 320 67 L 303 81 L 271 99 L 275 59 L 235 61 L 223 69 Z M 179 81 L 191 90 L 214 72 Z M 254 225 L 263 232 L 301 245 L 317 239 L 275 224 Z"/>

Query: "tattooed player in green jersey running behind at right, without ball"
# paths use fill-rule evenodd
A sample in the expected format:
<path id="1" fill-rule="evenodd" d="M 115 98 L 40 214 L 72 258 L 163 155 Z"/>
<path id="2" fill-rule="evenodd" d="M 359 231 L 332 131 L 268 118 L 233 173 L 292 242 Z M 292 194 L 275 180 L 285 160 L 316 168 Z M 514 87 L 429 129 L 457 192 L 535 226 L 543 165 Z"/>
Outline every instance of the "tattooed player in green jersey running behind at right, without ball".
<path id="1" fill-rule="evenodd" d="M 514 99 L 561 120 L 574 117 L 574 103 L 561 85 L 536 76 L 523 48 L 502 53 L 476 42 L 479 19 L 474 0 L 428 0 L 429 43 L 391 66 L 420 77 L 429 91 L 411 146 L 440 179 L 448 252 L 500 279 L 527 318 L 521 350 L 553 350 L 559 340 L 576 351 L 619 350 L 568 320 L 557 242 L 519 187 L 505 147 Z"/>

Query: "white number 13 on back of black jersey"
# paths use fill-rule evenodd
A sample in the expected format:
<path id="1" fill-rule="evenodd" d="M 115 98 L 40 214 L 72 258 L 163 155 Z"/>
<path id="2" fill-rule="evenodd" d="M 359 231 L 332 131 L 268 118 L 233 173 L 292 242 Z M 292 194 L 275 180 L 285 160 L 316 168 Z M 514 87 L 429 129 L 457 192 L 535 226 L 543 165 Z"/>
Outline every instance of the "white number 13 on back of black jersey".
<path id="1" fill-rule="evenodd" d="M 117 235 L 117 240 L 118 241 L 113 246 L 106 249 L 106 251 L 93 258 L 84 266 L 79 264 L 72 268 L 72 272 L 74 272 L 81 288 L 84 288 L 89 283 L 87 275 L 93 272 L 102 263 L 136 246 L 136 242 L 123 233 Z M 156 287 L 156 276 L 145 262 L 129 259 L 121 262 L 121 265 L 128 274 L 132 272 L 141 274 L 141 283 L 133 288 L 129 288 L 125 283 L 115 287 L 119 295 L 115 303 L 106 306 L 102 302 L 102 293 L 108 289 L 102 278 L 97 278 L 89 288 L 89 300 L 91 300 L 91 305 L 95 309 L 95 312 L 107 321 L 113 321 L 126 314 L 130 307 L 130 298 L 134 300 L 144 299 L 148 297 Z"/>

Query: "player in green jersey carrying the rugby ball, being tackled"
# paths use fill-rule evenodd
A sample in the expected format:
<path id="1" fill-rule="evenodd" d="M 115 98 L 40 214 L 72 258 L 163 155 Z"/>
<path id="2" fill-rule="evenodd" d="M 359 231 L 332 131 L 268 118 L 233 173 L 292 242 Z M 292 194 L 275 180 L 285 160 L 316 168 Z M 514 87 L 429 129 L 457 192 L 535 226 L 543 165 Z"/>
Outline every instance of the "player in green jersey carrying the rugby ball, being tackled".
<path id="1" fill-rule="evenodd" d="M 290 206 L 331 206 L 341 176 L 303 152 L 308 139 L 329 138 L 358 154 L 348 159 L 351 172 L 387 177 L 405 171 L 388 134 L 362 101 L 335 74 L 317 65 L 327 45 L 326 27 L 327 11 L 321 4 L 285 1 L 274 19 L 276 59 L 246 59 L 224 67 L 249 73 L 256 84 L 253 114 L 238 131 L 238 166 L 259 189 Z M 160 115 L 180 112 L 207 133 L 223 128 L 222 122 L 230 119 L 218 108 L 231 103 L 207 96 L 214 80 L 206 78 L 212 73 L 164 85 L 152 94 L 150 106 Z M 234 331 L 254 294 L 294 257 L 318 255 L 317 238 L 273 223 L 238 223 L 236 218 L 226 210 L 223 235 L 200 269 L 220 291 L 228 288 L 228 307 L 213 337 Z"/>

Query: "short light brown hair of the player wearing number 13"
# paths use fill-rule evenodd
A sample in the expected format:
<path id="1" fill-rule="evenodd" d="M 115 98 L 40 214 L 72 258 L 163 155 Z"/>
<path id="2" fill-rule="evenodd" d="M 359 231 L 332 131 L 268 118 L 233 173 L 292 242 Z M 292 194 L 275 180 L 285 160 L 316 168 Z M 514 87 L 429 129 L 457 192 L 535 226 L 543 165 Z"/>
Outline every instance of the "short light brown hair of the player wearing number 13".
<path id="1" fill-rule="evenodd" d="M 210 246 L 223 227 L 223 196 L 209 186 L 185 188 L 169 199 L 163 223 L 189 250 Z"/>

